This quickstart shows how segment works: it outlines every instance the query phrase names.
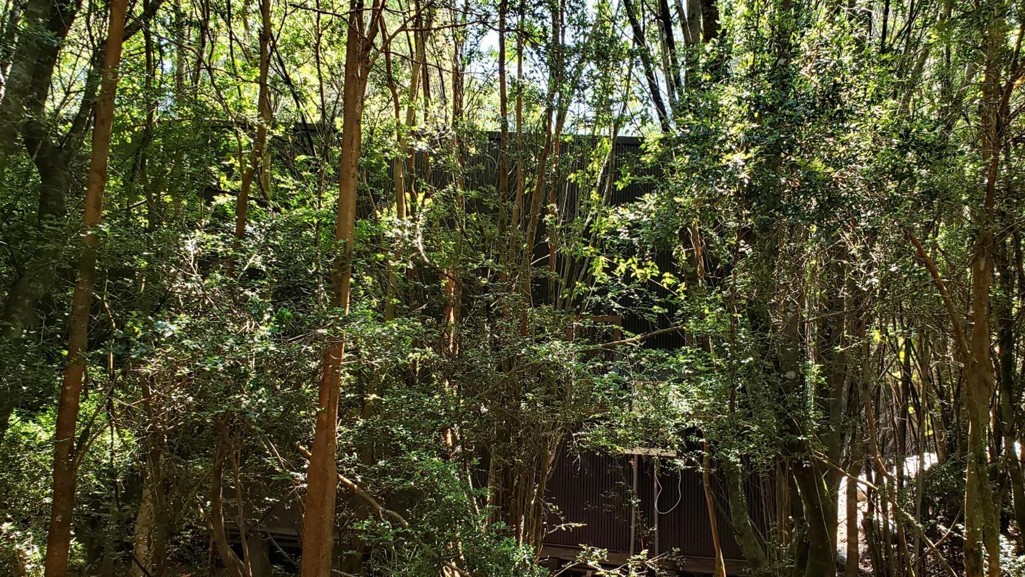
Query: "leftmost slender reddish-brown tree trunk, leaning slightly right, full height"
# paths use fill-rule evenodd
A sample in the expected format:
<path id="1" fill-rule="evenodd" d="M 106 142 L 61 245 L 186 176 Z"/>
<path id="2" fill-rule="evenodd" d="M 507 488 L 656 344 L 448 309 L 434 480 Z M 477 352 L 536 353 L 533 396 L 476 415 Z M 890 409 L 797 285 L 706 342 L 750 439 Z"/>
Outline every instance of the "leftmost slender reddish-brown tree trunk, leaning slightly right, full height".
<path id="1" fill-rule="evenodd" d="M 75 482 L 77 455 L 75 429 L 78 423 L 79 395 L 85 374 L 85 353 L 89 331 L 89 304 L 96 274 L 96 248 L 104 209 L 104 191 L 107 187 L 107 155 L 111 149 L 111 128 L 114 124 L 114 95 L 118 86 L 118 66 L 121 63 L 121 45 L 124 39 L 127 0 L 112 0 L 110 29 L 107 34 L 107 52 L 104 56 L 104 75 L 99 98 L 96 101 L 95 123 L 92 130 L 92 157 L 85 188 L 85 218 L 82 253 L 78 264 L 78 281 L 72 301 L 71 326 L 68 338 L 68 368 L 65 370 L 60 399 L 57 405 L 57 423 L 53 457 L 53 503 L 50 507 L 50 525 L 46 537 L 46 577 L 64 577 L 68 572 L 68 552 L 71 547 L 71 518 L 75 507 Z"/>

